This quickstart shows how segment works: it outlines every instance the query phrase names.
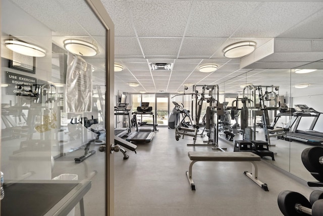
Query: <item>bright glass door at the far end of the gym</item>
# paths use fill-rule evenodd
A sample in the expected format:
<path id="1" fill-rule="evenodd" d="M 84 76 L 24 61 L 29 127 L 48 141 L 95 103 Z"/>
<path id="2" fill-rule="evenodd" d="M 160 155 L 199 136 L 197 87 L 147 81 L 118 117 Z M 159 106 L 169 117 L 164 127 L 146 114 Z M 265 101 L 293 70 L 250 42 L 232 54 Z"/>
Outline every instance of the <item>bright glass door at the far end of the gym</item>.
<path id="1" fill-rule="evenodd" d="M 155 122 L 160 125 L 168 125 L 169 118 L 169 96 L 157 96 L 155 106 Z"/>

